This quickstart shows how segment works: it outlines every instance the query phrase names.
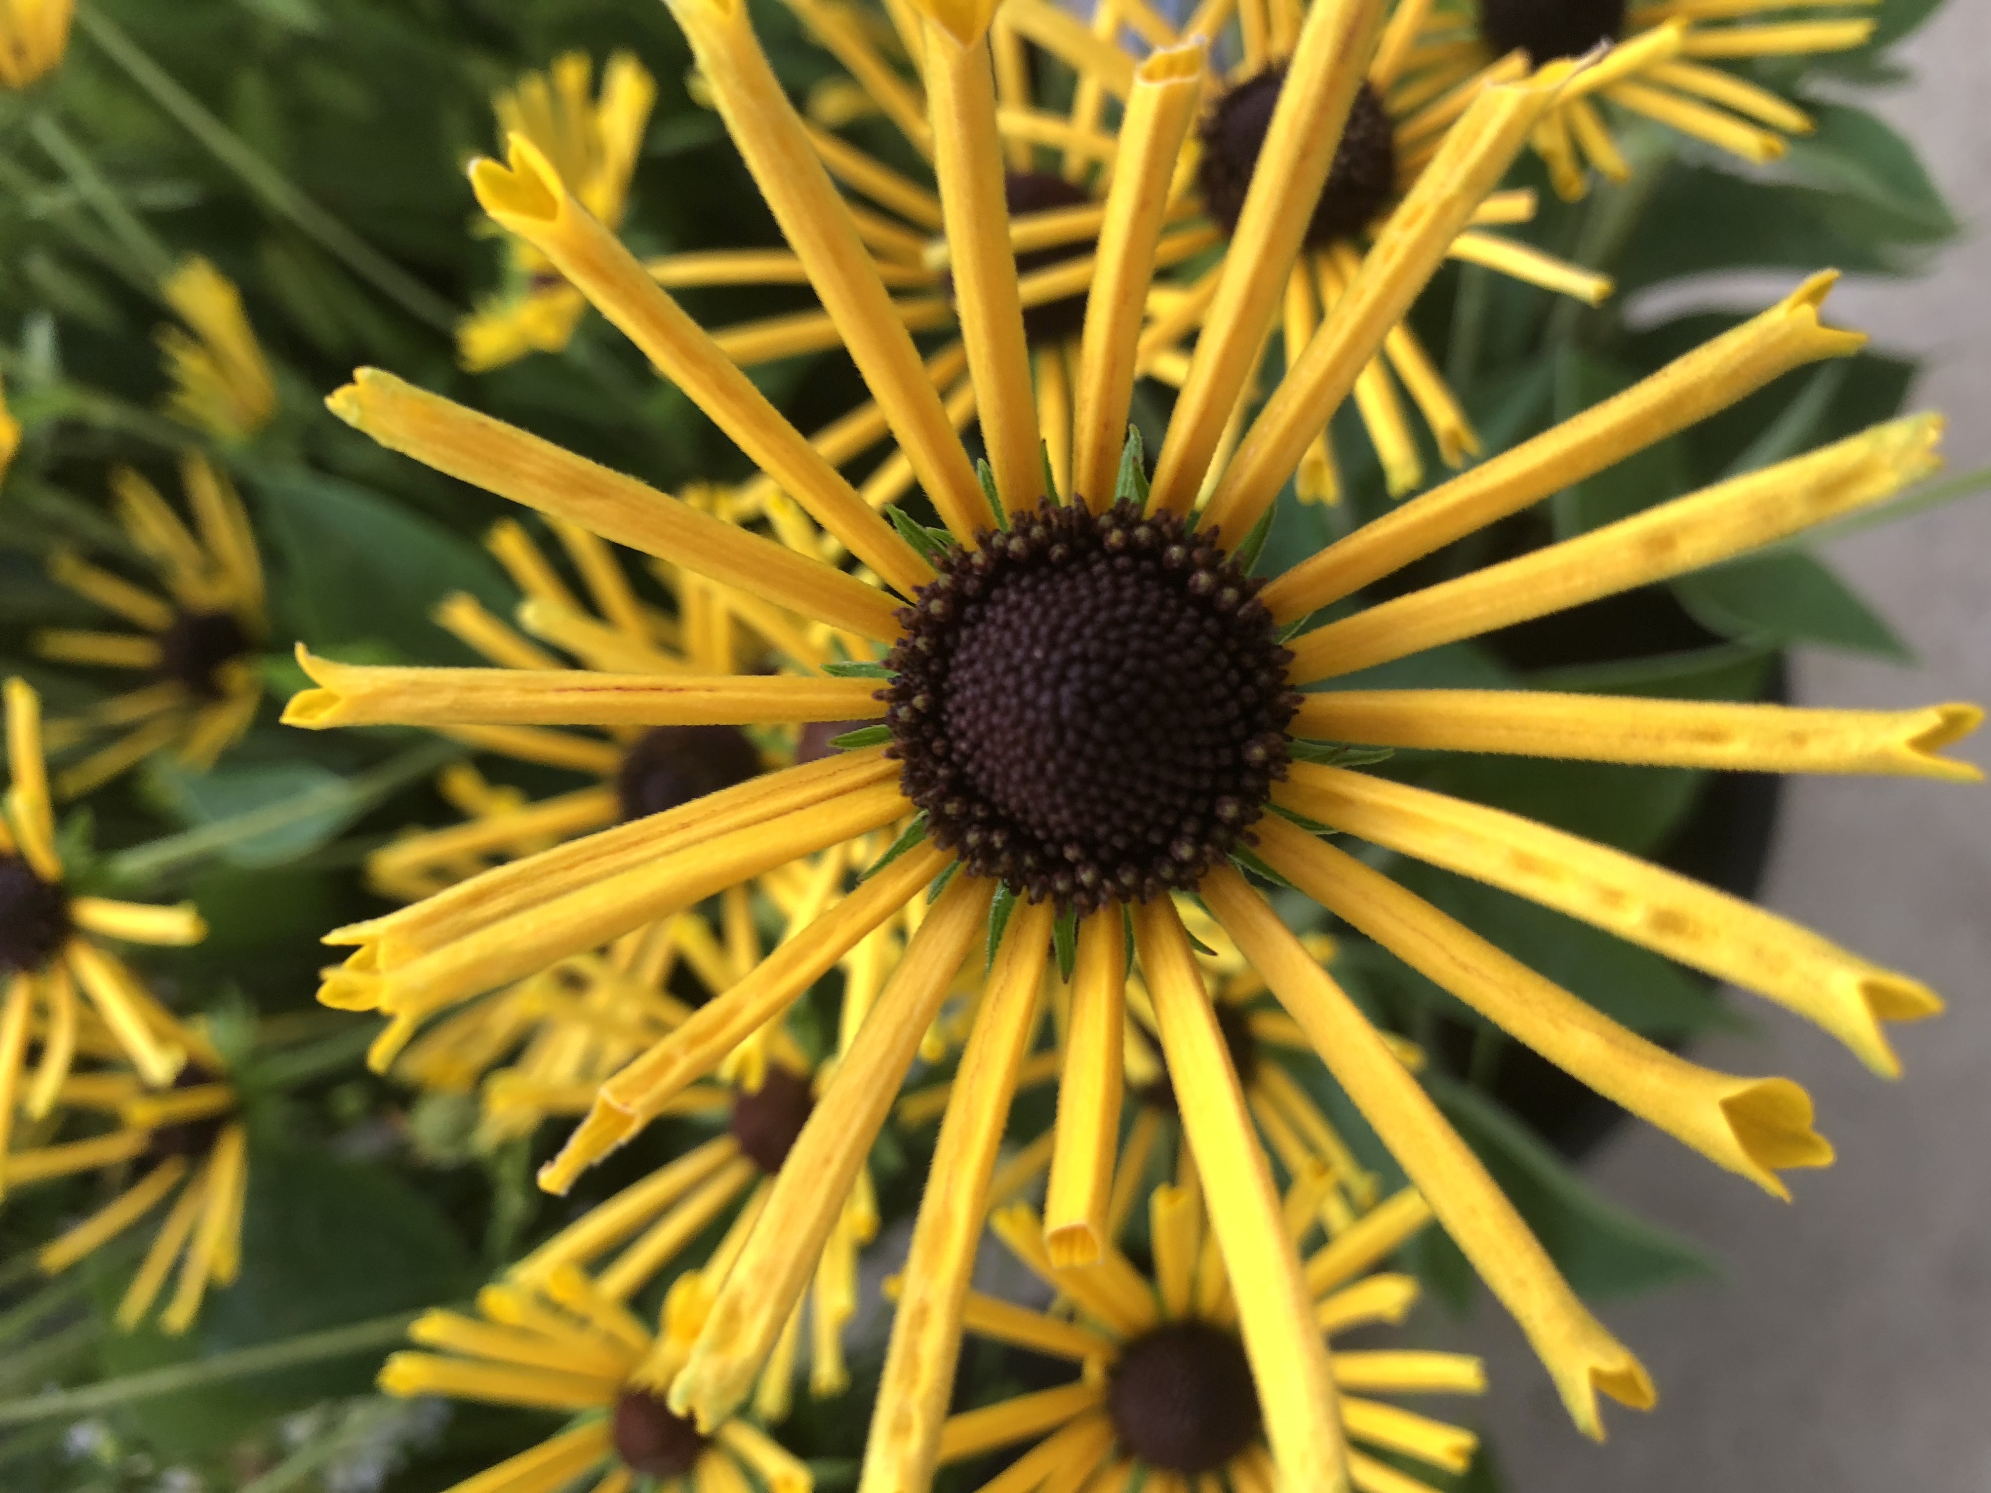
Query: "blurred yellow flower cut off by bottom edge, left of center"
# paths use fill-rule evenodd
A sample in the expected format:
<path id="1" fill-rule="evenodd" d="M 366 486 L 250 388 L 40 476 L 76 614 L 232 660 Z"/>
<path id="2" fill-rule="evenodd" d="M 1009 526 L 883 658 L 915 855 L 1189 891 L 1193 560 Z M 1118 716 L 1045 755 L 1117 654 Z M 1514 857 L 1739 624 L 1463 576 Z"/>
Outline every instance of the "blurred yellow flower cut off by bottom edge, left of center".
<path id="1" fill-rule="evenodd" d="M 810 1493 L 808 1467 L 753 1421 L 699 1427 L 677 1415 L 641 1378 L 657 1360 L 683 1358 L 699 1332 L 701 1298 L 677 1292 L 655 1332 L 567 1266 L 544 1284 L 486 1286 L 474 1316 L 434 1310 L 380 1370 L 390 1395 L 444 1395 L 569 1417 L 530 1451 L 456 1483 L 450 1493 Z"/>

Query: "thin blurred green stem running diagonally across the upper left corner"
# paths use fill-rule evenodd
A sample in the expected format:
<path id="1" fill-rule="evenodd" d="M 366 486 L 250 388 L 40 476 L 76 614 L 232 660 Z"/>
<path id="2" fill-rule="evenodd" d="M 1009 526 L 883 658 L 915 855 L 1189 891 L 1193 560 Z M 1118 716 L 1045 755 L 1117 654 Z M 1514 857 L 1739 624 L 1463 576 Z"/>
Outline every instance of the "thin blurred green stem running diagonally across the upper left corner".
<path id="1" fill-rule="evenodd" d="M 360 279 L 368 281 L 380 295 L 394 301 L 410 317 L 428 322 L 438 330 L 456 324 L 456 311 L 408 271 L 382 255 L 360 235 L 325 211 L 317 201 L 299 191 L 269 161 L 257 155 L 233 129 L 217 119 L 205 104 L 181 88 L 171 74 L 145 56 L 123 30 L 94 6 L 78 6 L 76 22 L 104 54 L 123 68 L 165 113 L 169 113 L 189 135 L 229 171 L 243 179 L 265 207 L 277 213 L 305 235 L 315 239 L 327 253 L 336 255 Z"/>

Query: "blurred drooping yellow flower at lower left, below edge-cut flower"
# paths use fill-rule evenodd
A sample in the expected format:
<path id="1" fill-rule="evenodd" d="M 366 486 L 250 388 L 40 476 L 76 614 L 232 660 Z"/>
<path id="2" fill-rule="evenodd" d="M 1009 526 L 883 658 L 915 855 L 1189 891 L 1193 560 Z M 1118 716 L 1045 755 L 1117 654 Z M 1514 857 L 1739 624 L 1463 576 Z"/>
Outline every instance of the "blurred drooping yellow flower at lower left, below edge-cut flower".
<path id="1" fill-rule="evenodd" d="M 175 1025 L 187 1067 L 169 1089 L 147 1089 L 135 1073 L 72 1073 L 60 1091 L 64 1119 L 111 1119 L 111 1129 L 10 1151 L 0 1159 L 8 1188 L 58 1176 L 104 1173 L 115 1196 L 46 1244 L 36 1262 L 46 1274 L 72 1268 L 129 1230 L 157 1218 L 157 1232 L 117 1304 L 117 1326 L 137 1328 L 151 1314 L 167 1276 L 179 1266 L 173 1296 L 159 1312 L 161 1332 L 193 1326 L 209 1286 L 227 1286 L 241 1270 L 243 1206 L 249 1196 L 249 1133 L 239 1095 L 213 1045 L 197 1027 Z M 80 1045 L 113 1049 L 108 1031 L 86 1017 Z M 135 1169 L 135 1176 L 133 1176 Z"/>

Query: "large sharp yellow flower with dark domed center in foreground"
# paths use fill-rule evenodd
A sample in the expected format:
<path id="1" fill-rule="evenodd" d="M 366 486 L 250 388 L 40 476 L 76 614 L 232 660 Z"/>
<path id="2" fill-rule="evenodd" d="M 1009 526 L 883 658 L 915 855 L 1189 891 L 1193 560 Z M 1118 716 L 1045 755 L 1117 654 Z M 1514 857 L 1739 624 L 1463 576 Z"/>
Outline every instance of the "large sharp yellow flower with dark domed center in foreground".
<path id="1" fill-rule="evenodd" d="M 850 750 L 836 758 L 765 774 L 336 930 L 331 942 L 356 948 L 329 975 L 321 997 L 392 1015 L 434 1011 L 918 810 L 916 832 L 900 836 L 898 854 L 605 1083 L 542 1180 L 555 1190 L 567 1186 L 579 1169 L 637 1133 L 655 1105 L 778 1019 L 868 930 L 932 892 L 671 1382 L 679 1413 L 693 1413 L 703 1427 L 721 1425 L 753 1393 L 786 1330 L 956 973 L 972 950 L 988 948 L 997 886 L 1011 888 L 1017 896 L 1001 922 L 988 991 L 942 1121 L 930 1206 L 916 1230 L 916 1252 L 928 1262 L 916 1278 L 928 1296 L 920 1310 L 900 1312 L 894 1328 L 892 1352 L 898 1362 L 918 1364 L 920 1374 L 894 1380 L 902 1387 L 882 1397 L 876 1421 L 892 1441 L 888 1461 L 904 1469 L 900 1485 L 924 1487 L 946 1417 L 980 1204 L 1053 934 L 1071 954 L 1077 1023 L 1101 1019 L 1085 1011 L 1123 1003 L 1123 926 L 1133 922 L 1218 1252 L 1232 1278 L 1256 1282 L 1238 1302 L 1254 1374 L 1260 1382 L 1328 1382 L 1318 1334 L 1296 1326 L 1306 1320 L 1298 1306 L 1304 1276 L 1284 1238 L 1268 1163 L 1193 946 L 1163 896 L 1195 890 L 1517 1316 L 1573 1419 L 1591 1433 L 1601 1429 L 1599 1391 L 1649 1405 L 1653 1389 L 1637 1358 L 1583 1308 L 1398 1055 L 1230 856 L 1246 834 L 1256 836 L 1256 854 L 1278 874 L 1328 898 L 1334 912 L 1374 938 L 1410 950 L 1414 963 L 1439 969 L 1438 977 L 1489 1019 L 1714 1161 L 1782 1190 L 1778 1169 L 1820 1165 L 1830 1155 L 1810 1129 L 1802 1089 L 1670 1057 L 1603 1021 L 1577 995 L 1479 954 L 1463 928 L 1422 902 L 1414 918 L 1406 910 L 1402 936 L 1396 926 L 1378 932 L 1370 904 L 1344 912 L 1338 890 L 1336 876 L 1354 874 L 1342 862 L 1356 870 L 1360 862 L 1286 814 L 1459 864 L 1770 995 L 1838 1033 L 1880 1071 L 1895 1069 L 1881 1023 L 1929 1015 L 1937 999 L 1903 975 L 1686 878 L 1523 820 L 1487 818 L 1491 810 L 1306 760 L 1316 752 L 1296 750 L 1294 741 L 1346 741 L 1350 733 L 1330 735 L 1322 725 L 1340 697 L 1294 691 L 1866 510 L 1933 468 L 1939 422 L 1923 416 L 1878 426 L 1461 579 L 1378 605 L 1338 607 L 1332 621 L 1306 627 L 1314 613 L 1449 539 L 1611 466 L 1788 368 L 1856 348 L 1860 338 L 1820 326 L 1818 303 L 1830 277 L 1260 587 L 1232 545 L 1266 516 L 1324 412 L 1350 392 L 1527 143 L 1571 76 L 1567 64 L 1479 92 L 1384 225 L 1348 295 L 1294 358 L 1215 482 L 1207 482 L 1300 251 L 1304 221 L 1284 213 L 1282 203 L 1316 197 L 1330 161 L 1326 153 L 1302 155 L 1288 173 L 1256 175 L 1151 484 L 1139 452 L 1131 444 L 1131 456 L 1121 450 L 1121 432 L 1165 187 L 1191 123 L 1201 60 L 1191 48 L 1189 58 L 1173 52 L 1141 64 L 1123 127 L 1133 139 L 1123 149 L 1131 151 L 1125 159 L 1151 165 L 1123 169 L 1107 197 L 1081 338 L 1085 416 L 1073 436 L 1071 502 L 1063 502 L 1065 494 L 1047 492 L 1043 480 L 1001 195 L 988 12 L 938 4 L 922 12 L 934 159 L 986 436 L 986 482 L 745 8 L 679 0 L 675 14 L 790 249 L 946 526 L 944 537 L 910 518 L 888 524 L 872 512 L 643 265 L 561 189 L 524 139 L 514 141 L 510 165 L 472 167 L 486 211 L 548 253 L 878 583 L 745 533 L 384 372 L 362 370 L 332 396 L 332 408 L 382 444 L 490 492 L 870 639 L 882 657 L 860 663 L 858 673 L 882 673 L 886 687 L 876 689 L 876 677 L 617 679 L 311 661 L 321 687 L 301 695 L 291 715 L 315 727 L 886 717 L 884 731 L 878 745 L 846 737 Z M 1376 0 L 1316 4 L 1296 42 L 1292 74 L 1324 66 L 1322 50 L 1332 52 L 1350 34 L 1372 34 L 1378 18 Z M 1165 107 L 1169 98 L 1173 107 Z M 1268 137 L 1310 107 L 1298 92 L 1282 92 Z M 1143 143 L 1147 131 L 1171 135 L 1163 139 L 1167 149 Z M 1338 127 L 1328 131 L 1336 135 Z M 1286 227 L 1246 231 L 1256 219 Z M 1205 490 L 1209 498 L 1197 508 Z M 1386 699 L 1408 703 L 1416 731 L 1443 746 L 1483 750 L 1503 741 L 1511 750 L 1760 770 L 1971 776 L 1935 748 L 1977 723 L 1967 707 L 1786 713 L 1527 693 Z M 1370 735 L 1412 735 L 1400 727 Z M 1266 812 L 1268 804 L 1274 812 Z M 1469 954 L 1439 963 L 1441 954 L 1457 950 Z M 1101 1047 L 1101 1061 L 1111 1063 L 1111 1043 Z M 1117 1075 L 1101 1083 L 1103 1091 L 1117 1087 Z M 1109 1147 L 1101 1139 L 1075 1153 L 1103 1157 Z M 922 1246 L 922 1232 L 936 1242 Z M 1282 1306 L 1268 1310 L 1268 1302 Z M 1266 1429 L 1286 1483 L 1344 1485 L 1332 1399 L 1272 1401 Z"/>

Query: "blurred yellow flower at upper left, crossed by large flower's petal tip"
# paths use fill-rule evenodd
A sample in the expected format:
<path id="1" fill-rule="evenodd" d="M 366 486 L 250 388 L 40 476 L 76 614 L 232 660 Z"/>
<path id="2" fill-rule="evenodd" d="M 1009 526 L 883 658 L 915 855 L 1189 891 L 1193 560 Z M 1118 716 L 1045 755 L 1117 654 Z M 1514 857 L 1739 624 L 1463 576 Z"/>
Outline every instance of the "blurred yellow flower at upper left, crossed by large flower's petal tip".
<path id="1" fill-rule="evenodd" d="M 591 96 L 593 64 L 567 52 L 498 94 L 498 129 L 530 139 L 559 181 L 609 229 L 621 223 L 657 82 L 631 54 L 617 52 Z M 472 372 L 500 368 L 530 352 L 557 352 L 587 309 L 553 263 L 528 243 L 506 241 L 506 289 L 456 328 L 458 356 Z"/>

